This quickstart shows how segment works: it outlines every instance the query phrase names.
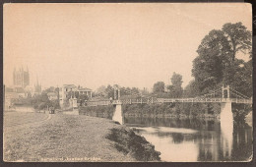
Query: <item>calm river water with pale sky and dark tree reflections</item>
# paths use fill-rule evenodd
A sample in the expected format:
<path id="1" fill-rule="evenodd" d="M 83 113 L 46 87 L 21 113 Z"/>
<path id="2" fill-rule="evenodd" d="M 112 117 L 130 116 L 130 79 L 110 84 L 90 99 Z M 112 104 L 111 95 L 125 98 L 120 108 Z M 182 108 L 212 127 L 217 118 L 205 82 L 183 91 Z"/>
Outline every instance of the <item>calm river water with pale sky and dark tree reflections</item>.
<path id="1" fill-rule="evenodd" d="M 155 145 L 162 161 L 249 161 L 252 155 L 252 127 L 246 123 L 135 117 L 123 121 Z"/>

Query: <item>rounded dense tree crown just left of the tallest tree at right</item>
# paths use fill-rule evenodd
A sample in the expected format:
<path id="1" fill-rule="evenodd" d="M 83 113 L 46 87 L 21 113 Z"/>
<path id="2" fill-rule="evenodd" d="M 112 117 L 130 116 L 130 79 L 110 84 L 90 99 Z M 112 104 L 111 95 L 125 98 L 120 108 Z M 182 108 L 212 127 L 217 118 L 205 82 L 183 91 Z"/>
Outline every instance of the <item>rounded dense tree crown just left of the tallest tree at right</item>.
<path id="1" fill-rule="evenodd" d="M 222 30 L 211 30 L 198 47 L 196 57 L 193 61 L 192 76 L 203 91 L 223 81 L 224 68 L 230 64 L 230 47 Z"/>

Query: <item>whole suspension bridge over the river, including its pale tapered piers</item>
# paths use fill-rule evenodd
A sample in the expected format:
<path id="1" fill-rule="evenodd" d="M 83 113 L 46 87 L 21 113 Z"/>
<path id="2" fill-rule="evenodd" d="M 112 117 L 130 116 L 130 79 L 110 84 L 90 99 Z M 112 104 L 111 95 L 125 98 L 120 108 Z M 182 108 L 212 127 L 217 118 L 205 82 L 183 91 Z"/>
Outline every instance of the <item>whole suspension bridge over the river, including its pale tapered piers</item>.
<path id="1" fill-rule="evenodd" d="M 89 100 L 86 102 L 86 106 L 107 106 L 113 105 L 115 107 L 115 112 L 112 120 L 118 121 L 120 124 L 123 123 L 123 112 L 122 105 L 129 104 L 162 104 L 162 103 L 221 103 L 221 125 L 231 126 L 233 121 L 232 115 L 232 103 L 240 104 L 252 104 L 252 98 L 242 94 L 241 92 L 231 88 L 229 85 L 223 85 L 220 88 L 212 90 L 206 94 L 190 97 L 190 98 L 157 98 L 153 96 L 143 96 L 141 93 L 134 92 L 132 90 L 127 90 L 120 86 L 114 86 L 113 89 L 113 99 L 105 100 Z M 121 91 L 125 94 L 132 95 L 135 98 L 121 98 Z M 76 104 L 77 99 L 72 104 Z M 74 108 L 74 106 L 73 106 Z"/>

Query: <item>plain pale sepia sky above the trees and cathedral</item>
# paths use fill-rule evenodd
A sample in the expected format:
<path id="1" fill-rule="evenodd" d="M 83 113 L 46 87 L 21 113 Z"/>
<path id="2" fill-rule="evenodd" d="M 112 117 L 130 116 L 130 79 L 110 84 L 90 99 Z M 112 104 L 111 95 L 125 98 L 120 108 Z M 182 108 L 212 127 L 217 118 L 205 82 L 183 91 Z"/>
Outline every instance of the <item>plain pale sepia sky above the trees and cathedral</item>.
<path id="1" fill-rule="evenodd" d="M 37 76 L 43 87 L 151 89 L 175 72 L 184 87 L 204 36 L 225 23 L 251 30 L 251 12 L 244 3 L 5 4 L 4 83 L 28 66 L 32 86 Z"/>

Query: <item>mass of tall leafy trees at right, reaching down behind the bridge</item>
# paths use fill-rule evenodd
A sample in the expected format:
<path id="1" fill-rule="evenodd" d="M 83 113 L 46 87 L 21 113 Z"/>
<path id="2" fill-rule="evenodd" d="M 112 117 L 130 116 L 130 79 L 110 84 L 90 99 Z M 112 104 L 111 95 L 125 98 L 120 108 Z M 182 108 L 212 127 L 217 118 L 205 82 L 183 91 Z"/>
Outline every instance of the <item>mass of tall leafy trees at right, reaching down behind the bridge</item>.
<path id="1" fill-rule="evenodd" d="M 195 81 L 185 88 L 186 95 L 204 94 L 223 84 L 229 84 L 233 89 L 251 97 L 251 36 L 251 31 L 241 23 L 228 23 L 222 29 L 211 30 L 198 47 L 198 57 L 194 59 L 192 69 Z M 245 62 L 238 59 L 238 52 L 250 54 L 250 60 Z M 220 108 L 219 105 L 210 107 Z M 240 115 L 245 115 L 250 107 L 234 104 L 233 109 L 235 115 L 240 118 Z"/>

